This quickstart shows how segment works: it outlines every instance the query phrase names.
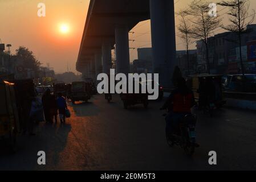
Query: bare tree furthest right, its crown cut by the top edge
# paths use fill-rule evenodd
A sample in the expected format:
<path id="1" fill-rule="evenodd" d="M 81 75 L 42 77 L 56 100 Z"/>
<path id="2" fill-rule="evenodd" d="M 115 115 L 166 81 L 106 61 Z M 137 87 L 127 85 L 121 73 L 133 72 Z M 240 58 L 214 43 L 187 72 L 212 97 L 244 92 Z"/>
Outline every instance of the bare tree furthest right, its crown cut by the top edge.
<path id="1" fill-rule="evenodd" d="M 218 3 L 218 5 L 229 7 L 230 11 L 227 13 L 231 22 L 227 26 L 222 26 L 227 31 L 235 32 L 238 34 L 238 43 L 239 43 L 239 56 L 241 63 L 242 74 L 245 75 L 245 68 L 243 67 L 242 60 L 242 41 L 241 35 L 246 32 L 247 26 L 253 23 L 255 18 L 255 11 L 249 15 L 249 1 L 248 0 L 230 0 L 230 1 L 222 1 Z"/>

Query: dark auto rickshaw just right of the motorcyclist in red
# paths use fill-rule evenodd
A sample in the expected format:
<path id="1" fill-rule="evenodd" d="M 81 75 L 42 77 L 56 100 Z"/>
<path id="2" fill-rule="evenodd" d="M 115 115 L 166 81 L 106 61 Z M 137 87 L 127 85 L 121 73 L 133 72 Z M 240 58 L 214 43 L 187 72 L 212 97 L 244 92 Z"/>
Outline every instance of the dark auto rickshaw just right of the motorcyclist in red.
<path id="1" fill-rule="evenodd" d="M 222 93 L 222 75 L 191 75 L 187 78 L 189 88 L 194 93 L 195 100 L 198 101 L 198 106 L 203 106 L 207 101 L 204 101 L 204 96 L 209 98 L 209 102 L 215 107 L 220 108 L 226 104 L 224 94 Z M 209 104 L 209 103 L 208 103 Z"/>

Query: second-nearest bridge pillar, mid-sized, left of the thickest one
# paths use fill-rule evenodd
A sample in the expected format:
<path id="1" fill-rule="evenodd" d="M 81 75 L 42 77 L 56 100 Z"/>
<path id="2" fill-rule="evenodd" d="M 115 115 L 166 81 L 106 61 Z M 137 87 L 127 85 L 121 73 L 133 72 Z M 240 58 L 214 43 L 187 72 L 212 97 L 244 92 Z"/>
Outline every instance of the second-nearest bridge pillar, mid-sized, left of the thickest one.
<path id="1" fill-rule="evenodd" d="M 117 73 L 128 75 L 130 67 L 128 27 L 123 25 L 116 26 L 115 38 Z"/>

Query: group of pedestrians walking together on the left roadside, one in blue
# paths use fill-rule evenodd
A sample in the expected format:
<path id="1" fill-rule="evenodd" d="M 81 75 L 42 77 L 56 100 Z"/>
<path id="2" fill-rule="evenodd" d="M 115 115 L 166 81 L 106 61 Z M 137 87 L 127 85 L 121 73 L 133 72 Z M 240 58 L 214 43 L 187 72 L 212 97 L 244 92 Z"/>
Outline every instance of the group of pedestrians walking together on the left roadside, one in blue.
<path id="1" fill-rule="evenodd" d="M 43 112 L 46 122 L 52 123 L 55 120 L 55 123 L 58 121 L 58 111 L 59 119 L 61 123 L 66 122 L 66 109 L 67 102 L 62 93 L 58 93 L 56 97 L 54 94 L 51 94 L 50 89 L 47 89 L 42 96 Z"/>

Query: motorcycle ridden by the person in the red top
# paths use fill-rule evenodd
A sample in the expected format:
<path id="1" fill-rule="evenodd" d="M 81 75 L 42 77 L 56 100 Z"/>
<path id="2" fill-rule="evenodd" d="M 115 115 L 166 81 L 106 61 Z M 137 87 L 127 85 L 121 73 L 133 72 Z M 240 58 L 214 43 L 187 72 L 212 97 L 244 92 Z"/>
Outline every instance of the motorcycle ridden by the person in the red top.
<path id="1" fill-rule="evenodd" d="M 167 114 L 164 114 L 165 117 Z M 196 143 L 196 121 L 195 114 L 187 114 L 181 119 L 179 125 L 174 129 L 172 137 L 166 133 L 166 140 L 170 147 L 180 146 L 187 155 L 192 156 L 199 145 Z"/>

